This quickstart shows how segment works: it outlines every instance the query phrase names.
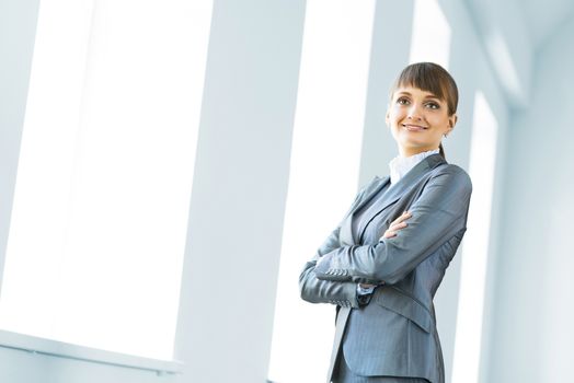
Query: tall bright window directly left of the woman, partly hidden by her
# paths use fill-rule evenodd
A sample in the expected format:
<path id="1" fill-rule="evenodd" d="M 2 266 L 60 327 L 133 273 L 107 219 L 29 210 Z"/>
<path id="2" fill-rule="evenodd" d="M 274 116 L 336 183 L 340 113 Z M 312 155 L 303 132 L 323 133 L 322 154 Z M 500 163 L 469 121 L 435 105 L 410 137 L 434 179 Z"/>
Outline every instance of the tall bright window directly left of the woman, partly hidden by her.
<path id="1" fill-rule="evenodd" d="M 307 2 L 269 367 L 273 382 L 325 379 L 335 309 L 303 302 L 297 278 L 356 193 L 374 11 L 374 1 Z"/>

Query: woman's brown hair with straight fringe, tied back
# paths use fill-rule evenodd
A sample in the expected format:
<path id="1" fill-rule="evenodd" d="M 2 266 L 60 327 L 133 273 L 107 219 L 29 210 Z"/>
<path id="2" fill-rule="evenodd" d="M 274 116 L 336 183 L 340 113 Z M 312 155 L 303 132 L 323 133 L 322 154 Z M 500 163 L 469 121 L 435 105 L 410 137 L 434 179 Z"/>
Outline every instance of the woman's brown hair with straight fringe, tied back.
<path id="1" fill-rule="evenodd" d="M 415 62 L 403 69 L 390 90 L 390 98 L 397 89 L 401 86 L 414 86 L 425 92 L 435 94 L 438 98 L 446 101 L 448 115 L 457 113 L 458 88 L 455 79 L 445 68 L 434 62 Z M 440 155 L 445 158 L 443 143 L 439 144 Z"/>

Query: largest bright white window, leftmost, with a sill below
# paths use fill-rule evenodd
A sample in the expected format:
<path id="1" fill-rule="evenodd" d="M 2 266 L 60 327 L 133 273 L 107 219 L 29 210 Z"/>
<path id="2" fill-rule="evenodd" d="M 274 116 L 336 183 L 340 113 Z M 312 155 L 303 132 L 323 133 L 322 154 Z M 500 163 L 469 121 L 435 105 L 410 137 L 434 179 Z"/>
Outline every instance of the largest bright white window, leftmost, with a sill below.
<path id="1" fill-rule="evenodd" d="M 172 358 L 210 14 L 42 1 L 2 329 Z"/>

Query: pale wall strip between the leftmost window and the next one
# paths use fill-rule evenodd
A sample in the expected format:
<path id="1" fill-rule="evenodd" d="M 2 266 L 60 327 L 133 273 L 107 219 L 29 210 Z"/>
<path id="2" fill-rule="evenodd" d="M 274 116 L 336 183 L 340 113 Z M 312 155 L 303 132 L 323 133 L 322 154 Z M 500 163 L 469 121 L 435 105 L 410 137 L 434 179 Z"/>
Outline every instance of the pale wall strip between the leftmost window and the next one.
<path id="1" fill-rule="evenodd" d="M 175 356 L 182 382 L 264 382 L 305 1 L 213 14 Z"/>

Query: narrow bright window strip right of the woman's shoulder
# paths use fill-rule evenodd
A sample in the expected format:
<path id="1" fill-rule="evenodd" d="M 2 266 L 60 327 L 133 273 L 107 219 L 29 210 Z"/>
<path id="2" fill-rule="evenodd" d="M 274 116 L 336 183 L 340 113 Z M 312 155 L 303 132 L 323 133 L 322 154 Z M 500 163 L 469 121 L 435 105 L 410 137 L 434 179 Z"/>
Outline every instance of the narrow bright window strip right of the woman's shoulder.
<path id="1" fill-rule="evenodd" d="M 498 124 L 484 94 L 477 92 L 469 173 L 472 198 L 462 242 L 460 294 L 452 382 L 479 382 L 486 266 Z"/>

